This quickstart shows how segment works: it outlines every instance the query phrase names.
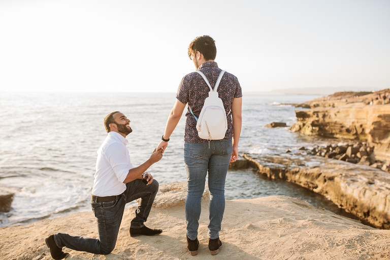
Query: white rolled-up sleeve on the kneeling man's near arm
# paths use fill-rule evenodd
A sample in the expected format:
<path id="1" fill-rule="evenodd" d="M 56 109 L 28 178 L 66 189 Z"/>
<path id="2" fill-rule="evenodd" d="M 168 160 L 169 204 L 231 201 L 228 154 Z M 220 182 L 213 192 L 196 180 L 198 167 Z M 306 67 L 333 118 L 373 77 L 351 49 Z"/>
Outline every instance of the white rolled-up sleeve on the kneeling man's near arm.
<path id="1" fill-rule="evenodd" d="M 120 182 L 126 179 L 128 171 L 133 168 L 128 164 L 126 153 L 126 147 L 120 143 L 110 144 L 106 151 L 106 158 Z"/>

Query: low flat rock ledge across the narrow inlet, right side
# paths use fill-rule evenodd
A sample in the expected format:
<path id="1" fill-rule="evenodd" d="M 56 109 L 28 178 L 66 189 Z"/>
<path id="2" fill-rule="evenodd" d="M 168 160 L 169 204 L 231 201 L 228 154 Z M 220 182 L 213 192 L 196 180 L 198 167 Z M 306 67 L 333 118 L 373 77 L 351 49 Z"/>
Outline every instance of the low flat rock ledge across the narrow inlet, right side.
<path id="1" fill-rule="evenodd" d="M 390 174 L 386 172 L 314 156 L 243 156 L 269 178 L 299 184 L 377 228 L 390 229 Z"/>

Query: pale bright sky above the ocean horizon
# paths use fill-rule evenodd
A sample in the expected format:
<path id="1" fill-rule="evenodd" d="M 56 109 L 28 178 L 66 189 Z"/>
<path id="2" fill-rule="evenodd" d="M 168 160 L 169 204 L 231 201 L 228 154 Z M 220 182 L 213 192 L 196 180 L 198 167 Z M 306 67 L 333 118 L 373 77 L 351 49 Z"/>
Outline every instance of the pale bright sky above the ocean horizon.
<path id="1" fill-rule="evenodd" d="M 0 0 L 0 91 L 176 92 L 202 35 L 244 92 L 390 87 L 386 0 Z"/>

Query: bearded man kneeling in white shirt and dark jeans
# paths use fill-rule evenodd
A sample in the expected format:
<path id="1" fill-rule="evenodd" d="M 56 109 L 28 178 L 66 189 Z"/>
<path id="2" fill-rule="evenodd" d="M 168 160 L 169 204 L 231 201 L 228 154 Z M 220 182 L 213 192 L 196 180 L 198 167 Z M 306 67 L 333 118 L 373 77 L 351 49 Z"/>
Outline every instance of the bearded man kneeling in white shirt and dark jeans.
<path id="1" fill-rule="evenodd" d="M 111 253 L 115 248 L 124 206 L 127 202 L 139 198 L 141 202 L 130 225 L 130 236 L 153 236 L 163 232 L 144 225 L 158 191 L 158 182 L 153 180 L 151 174 L 144 172 L 163 157 L 163 150 L 154 150 L 145 163 L 134 167 L 125 138 L 133 131 L 130 120 L 115 111 L 106 116 L 104 125 L 108 136 L 98 150 L 91 195 L 91 207 L 98 222 L 99 239 L 72 237 L 63 233 L 50 235 L 46 238 L 46 245 L 54 259 L 69 255 L 62 252 L 64 246 L 93 254 Z M 147 184 L 142 179 L 146 179 L 144 181 L 147 181 Z"/>

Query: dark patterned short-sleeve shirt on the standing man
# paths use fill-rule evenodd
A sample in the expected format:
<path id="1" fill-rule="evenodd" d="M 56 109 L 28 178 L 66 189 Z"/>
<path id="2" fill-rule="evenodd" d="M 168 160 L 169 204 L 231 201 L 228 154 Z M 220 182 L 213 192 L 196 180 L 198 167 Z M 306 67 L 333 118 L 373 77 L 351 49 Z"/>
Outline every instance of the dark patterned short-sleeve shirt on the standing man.
<path id="1" fill-rule="evenodd" d="M 214 89 L 218 76 L 221 73 L 221 69 L 218 68 L 218 64 L 214 61 L 207 61 L 199 67 L 201 71 L 209 81 L 211 87 Z M 181 80 L 179 88 L 177 90 L 176 99 L 183 104 L 188 103 L 188 107 L 192 112 L 199 117 L 206 98 L 209 96 L 210 88 L 199 73 L 192 72 L 184 76 Z M 233 124 L 231 107 L 235 98 L 241 98 L 242 91 L 238 79 L 233 74 L 225 72 L 219 83 L 218 96 L 222 100 L 225 112 L 228 119 L 228 130 L 226 131 L 223 140 L 230 140 L 233 137 Z M 202 139 L 198 135 L 197 120 L 189 112 L 185 114 L 187 117 L 185 121 L 185 134 L 184 141 L 189 143 L 205 143 L 206 139 Z"/>

